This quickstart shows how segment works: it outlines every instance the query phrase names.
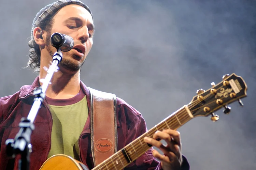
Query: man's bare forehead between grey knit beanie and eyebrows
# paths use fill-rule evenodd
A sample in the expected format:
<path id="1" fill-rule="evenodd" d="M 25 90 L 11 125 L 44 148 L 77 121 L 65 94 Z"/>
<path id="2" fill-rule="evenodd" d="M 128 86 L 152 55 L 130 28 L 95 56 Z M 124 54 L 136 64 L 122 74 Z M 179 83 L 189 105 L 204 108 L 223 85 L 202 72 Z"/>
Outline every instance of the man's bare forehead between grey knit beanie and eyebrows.
<path id="1" fill-rule="evenodd" d="M 82 20 L 93 23 L 93 17 L 83 6 L 71 4 L 62 7 L 57 14 L 53 17 L 54 20 L 66 20 L 70 17 L 79 17 Z"/>

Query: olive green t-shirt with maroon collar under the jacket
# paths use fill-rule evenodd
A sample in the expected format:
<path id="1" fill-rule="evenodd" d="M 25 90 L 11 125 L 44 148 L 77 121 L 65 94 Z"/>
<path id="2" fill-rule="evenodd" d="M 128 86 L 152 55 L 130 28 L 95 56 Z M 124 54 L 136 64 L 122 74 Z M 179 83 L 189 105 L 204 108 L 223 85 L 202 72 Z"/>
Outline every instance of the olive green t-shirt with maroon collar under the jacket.
<path id="1" fill-rule="evenodd" d="M 88 118 L 85 94 L 80 90 L 70 99 L 46 99 L 53 118 L 52 144 L 47 158 L 65 154 L 79 160 L 78 139 Z"/>

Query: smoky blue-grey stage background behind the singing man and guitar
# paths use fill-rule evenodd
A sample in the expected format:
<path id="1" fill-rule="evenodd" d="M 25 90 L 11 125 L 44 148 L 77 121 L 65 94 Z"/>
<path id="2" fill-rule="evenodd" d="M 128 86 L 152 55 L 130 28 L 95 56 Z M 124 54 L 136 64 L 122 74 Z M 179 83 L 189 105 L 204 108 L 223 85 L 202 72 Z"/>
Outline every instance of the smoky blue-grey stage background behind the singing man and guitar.
<path id="1" fill-rule="evenodd" d="M 82 0 L 93 12 L 94 45 L 81 71 L 86 86 L 116 94 L 150 129 L 196 90 L 242 76 L 244 107 L 220 119 L 192 119 L 178 130 L 191 170 L 256 169 L 256 1 Z M 35 14 L 51 0 L 1 0 L 0 97 L 37 74 L 24 69 Z"/>

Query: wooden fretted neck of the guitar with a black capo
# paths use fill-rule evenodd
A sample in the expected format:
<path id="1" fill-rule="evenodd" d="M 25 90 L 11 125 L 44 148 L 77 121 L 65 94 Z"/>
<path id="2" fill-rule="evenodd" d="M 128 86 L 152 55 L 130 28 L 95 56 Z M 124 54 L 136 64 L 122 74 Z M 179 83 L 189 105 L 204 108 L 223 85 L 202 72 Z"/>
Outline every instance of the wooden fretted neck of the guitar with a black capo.
<path id="1" fill-rule="evenodd" d="M 153 128 L 142 134 L 136 140 L 126 145 L 123 149 L 119 150 L 114 155 L 100 163 L 93 170 L 121 170 L 125 168 L 151 148 L 150 145 L 144 142 L 144 137 L 152 138 L 157 130 L 176 130 L 192 118 L 193 115 L 191 114 L 188 107 L 186 105 L 183 106 L 169 117 L 155 125 Z"/>

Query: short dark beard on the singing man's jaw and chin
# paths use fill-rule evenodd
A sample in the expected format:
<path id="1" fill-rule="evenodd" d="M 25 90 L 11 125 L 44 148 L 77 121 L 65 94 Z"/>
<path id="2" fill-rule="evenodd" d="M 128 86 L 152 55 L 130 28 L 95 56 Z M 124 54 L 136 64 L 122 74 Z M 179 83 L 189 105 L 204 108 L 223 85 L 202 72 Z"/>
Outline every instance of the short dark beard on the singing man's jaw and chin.
<path id="1" fill-rule="evenodd" d="M 54 52 L 51 48 L 52 45 L 51 45 L 50 41 L 51 41 L 51 36 L 47 36 L 46 40 L 45 40 L 45 47 L 46 47 L 46 50 L 49 52 L 49 54 L 51 56 L 53 56 Z M 75 54 L 72 54 L 72 58 L 75 59 L 75 58 L 80 58 L 80 57 Z M 62 57 L 62 60 L 59 63 L 59 65 L 65 69 L 67 69 L 70 72 L 77 72 L 83 66 L 84 62 L 85 62 L 85 60 L 81 64 L 77 64 L 77 63 L 73 62 L 71 59 Z"/>

